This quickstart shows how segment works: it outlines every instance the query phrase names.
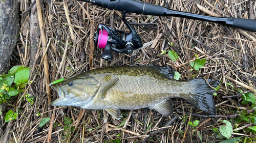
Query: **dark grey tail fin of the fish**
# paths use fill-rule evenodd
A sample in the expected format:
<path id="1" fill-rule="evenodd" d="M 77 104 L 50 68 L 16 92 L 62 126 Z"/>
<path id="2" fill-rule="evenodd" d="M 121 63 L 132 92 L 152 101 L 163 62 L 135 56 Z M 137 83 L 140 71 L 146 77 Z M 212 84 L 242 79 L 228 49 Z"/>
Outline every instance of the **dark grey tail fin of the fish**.
<path id="1" fill-rule="evenodd" d="M 207 80 L 211 87 L 218 87 L 217 80 Z M 204 79 L 192 79 L 189 84 L 196 85 L 195 94 L 186 99 L 190 104 L 196 106 L 202 111 L 216 115 L 216 106 L 212 94 L 215 89 L 212 89 Z"/>

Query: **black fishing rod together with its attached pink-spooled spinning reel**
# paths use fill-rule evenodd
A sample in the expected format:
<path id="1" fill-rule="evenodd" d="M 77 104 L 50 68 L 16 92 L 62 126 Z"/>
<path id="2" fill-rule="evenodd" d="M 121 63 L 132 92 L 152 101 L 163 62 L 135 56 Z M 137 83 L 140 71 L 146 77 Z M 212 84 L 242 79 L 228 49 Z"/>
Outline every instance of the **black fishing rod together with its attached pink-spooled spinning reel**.
<path id="1" fill-rule="evenodd" d="M 108 8 L 110 10 L 118 10 L 123 12 L 122 20 L 129 28 L 131 34 L 126 35 L 122 31 L 113 30 L 113 28 L 99 24 L 95 36 L 95 46 L 104 48 L 101 55 L 103 60 L 111 60 L 111 50 L 122 53 L 132 53 L 132 50 L 142 46 L 142 41 L 139 35 L 135 32 L 132 26 L 126 21 L 125 14 L 128 12 L 154 16 L 174 16 L 188 18 L 200 21 L 214 22 L 229 27 L 241 28 L 243 30 L 256 32 L 256 20 L 243 19 L 233 17 L 215 17 L 206 16 L 195 13 L 172 10 L 166 7 L 148 4 L 136 0 L 79 0 L 82 2 L 92 3 L 99 7 Z M 119 35 L 119 36 L 117 36 Z M 121 35 L 121 36 L 120 36 Z"/>

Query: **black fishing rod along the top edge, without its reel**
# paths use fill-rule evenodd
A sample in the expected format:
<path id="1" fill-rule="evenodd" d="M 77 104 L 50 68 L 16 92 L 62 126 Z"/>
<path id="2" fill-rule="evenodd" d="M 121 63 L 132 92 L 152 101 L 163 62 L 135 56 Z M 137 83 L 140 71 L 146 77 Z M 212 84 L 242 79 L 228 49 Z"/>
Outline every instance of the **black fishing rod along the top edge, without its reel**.
<path id="1" fill-rule="evenodd" d="M 92 3 L 110 10 L 127 11 L 136 14 L 154 15 L 154 16 L 174 16 L 194 20 L 214 22 L 230 27 L 242 28 L 247 31 L 256 32 L 256 20 L 242 19 L 233 17 L 215 17 L 195 13 L 176 11 L 158 5 L 148 4 L 135 0 L 81 0 Z"/>

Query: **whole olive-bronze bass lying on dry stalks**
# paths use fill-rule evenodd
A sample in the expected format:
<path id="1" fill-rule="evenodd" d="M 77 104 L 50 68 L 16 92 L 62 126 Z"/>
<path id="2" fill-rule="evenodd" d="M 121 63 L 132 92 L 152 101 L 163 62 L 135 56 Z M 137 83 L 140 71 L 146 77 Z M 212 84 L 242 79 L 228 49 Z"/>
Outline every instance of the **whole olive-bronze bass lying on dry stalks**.
<path id="1" fill-rule="evenodd" d="M 173 77 L 170 66 L 113 66 L 88 70 L 55 85 L 53 89 L 58 98 L 51 105 L 104 109 L 116 119 L 121 118 L 120 109 L 148 107 L 167 117 L 173 115 L 170 98 L 182 98 L 216 115 L 212 87 L 218 87 L 217 80 L 181 81 Z"/>

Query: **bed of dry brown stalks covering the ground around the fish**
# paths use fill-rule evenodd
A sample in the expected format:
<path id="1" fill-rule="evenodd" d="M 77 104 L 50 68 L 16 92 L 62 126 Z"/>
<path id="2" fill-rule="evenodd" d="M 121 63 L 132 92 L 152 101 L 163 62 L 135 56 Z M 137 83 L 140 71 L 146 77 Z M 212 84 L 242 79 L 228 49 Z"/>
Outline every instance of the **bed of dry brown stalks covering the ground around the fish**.
<path id="1" fill-rule="evenodd" d="M 20 11 L 23 13 L 31 6 L 32 2 L 20 1 Z M 227 7 L 225 7 L 226 2 Z M 165 5 L 163 0 L 151 0 L 148 3 Z M 205 9 L 201 8 L 201 11 L 200 6 Z M 255 19 L 255 6 L 255 1 L 252 0 L 168 1 L 168 7 L 174 10 L 199 14 L 205 14 L 203 12 L 205 11 L 210 15 L 250 19 Z M 111 11 L 74 0 L 42 1 L 41 10 L 42 25 L 40 26 L 45 33 L 45 38 L 42 37 L 42 33 L 39 37 L 39 31 L 31 30 L 31 23 L 37 24 L 34 19 L 30 19 L 31 14 L 36 16 L 38 14 L 34 7 L 30 7 L 20 19 L 22 28 L 18 36 L 18 48 L 14 51 L 17 60 L 13 58 L 11 65 L 31 67 L 33 64 L 35 65 L 35 82 L 31 84 L 28 90 L 28 93 L 35 97 L 35 102 L 32 106 L 26 101 L 20 100 L 17 103 L 17 108 L 20 111 L 17 120 L 11 125 L 13 126 L 11 142 L 16 142 L 15 139 L 19 142 L 111 142 L 117 137 L 122 140 L 121 142 L 141 142 L 148 135 L 152 137 L 149 137 L 146 142 L 195 142 L 196 140 L 200 142 L 199 135 L 202 136 L 203 142 L 219 142 L 220 139 L 216 139 L 216 135 L 212 136 L 213 132 L 210 129 L 221 126 L 220 120 L 229 120 L 230 117 L 227 117 L 232 110 L 248 109 L 249 107 L 249 105 L 240 105 L 241 97 L 239 96 L 236 98 L 222 97 L 239 94 L 236 89 L 251 90 L 254 94 L 255 78 L 253 77 L 256 76 L 255 33 L 215 23 L 177 17 L 128 14 L 126 19 L 129 22 L 156 23 L 154 25 L 134 25 L 143 43 L 148 46 L 136 51 L 137 53 L 134 52 L 132 57 L 127 54 L 113 53 L 113 60 L 105 62 L 101 60 L 100 54 L 95 56 L 96 50 L 92 49 L 90 39 L 92 40 L 99 23 L 110 25 L 117 30 L 128 31 L 121 21 L 119 11 Z M 38 37 L 30 37 L 31 33 Z M 201 43 L 188 36 L 201 41 Z M 30 43 L 31 39 L 37 39 L 39 43 L 36 46 L 31 46 L 35 45 Z M 42 43 L 44 41 L 45 43 Z M 172 46 L 168 44 L 171 42 L 173 42 Z M 208 47 L 217 52 L 209 50 Z M 180 59 L 178 62 L 172 62 L 167 55 L 159 55 L 162 50 L 175 50 Z M 47 51 L 45 54 L 47 61 L 44 61 L 43 57 L 45 51 Z M 205 66 L 199 70 L 199 73 L 186 68 L 191 68 L 189 61 L 195 58 L 195 54 L 201 59 L 207 58 Z M 233 62 L 222 55 L 226 55 Z M 31 62 L 33 59 L 34 62 Z M 190 104 L 181 99 L 172 99 L 174 103 L 174 115 L 172 117 L 162 117 L 159 113 L 155 115 L 154 111 L 150 109 L 138 109 L 123 110 L 122 112 L 126 114 L 121 120 L 113 119 L 103 110 L 91 111 L 79 107 L 58 108 L 50 106 L 49 102 L 56 99 L 57 95 L 55 91 L 48 89 L 46 83 L 93 68 L 131 64 L 170 65 L 181 73 L 181 80 L 190 79 L 194 74 L 197 74 L 195 78 L 223 80 L 218 96 L 214 97 L 218 108 L 217 114 L 222 115 L 222 117 L 215 116 L 204 119 L 196 115 L 191 116 L 189 112 L 203 115 L 203 117 L 206 117 L 206 113 L 191 107 Z M 49 70 L 49 75 L 47 75 L 47 70 Z M 31 77 L 32 79 L 33 77 Z M 234 90 L 227 83 L 232 84 L 235 87 Z M 49 93 L 47 93 L 48 90 L 50 90 Z M 15 106 L 15 100 L 10 100 L 6 109 Z M 41 116 L 37 116 L 37 113 L 40 113 Z M 186 117 L 186 115 L 188 116 Z M 51 118 L 51 122 L 38 128 L 40 120 L 45 117 Z M 71 119 L 72 126 L 75 127 L 74 131 L 71 129 L 63 130 L 65 117 Z M 194 131 L 187 122 L 183 121 L 185 118 L 187 121 L 199 120 L 198 132 L 192 134 Z M 125 124 L 116 127 L 122 122 Z M 245 125 L 247 123 L 241 123 L 240 127 Z M 249 126 L 253 125 L 250 124 Z M 161 128 L 164 129 L 157 133 L 156 130 Z M 38 130 L 39 132 L 37 132 Z M 245 134 L 247 133 L 240 132 L 240 135 L 235 133 L 232 136 L 237 137 Z M 248 135 L 255 136 L 253 133 L 248 133 Z"/>

